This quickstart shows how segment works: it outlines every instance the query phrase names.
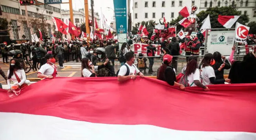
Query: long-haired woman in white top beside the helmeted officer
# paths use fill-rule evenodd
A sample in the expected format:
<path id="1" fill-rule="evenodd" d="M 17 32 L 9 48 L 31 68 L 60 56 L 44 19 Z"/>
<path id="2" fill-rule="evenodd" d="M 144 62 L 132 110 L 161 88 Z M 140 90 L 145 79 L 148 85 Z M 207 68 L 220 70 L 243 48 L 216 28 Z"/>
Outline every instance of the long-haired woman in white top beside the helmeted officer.
<path id="1" fill-rule="evenodd" d="M 97 77 L 95 71 L 103 68 L 108 64 L 108 61 L 105 61 L 101 66 L 94 66 L 88 58 L 82 59 L 82 77 Z"/>

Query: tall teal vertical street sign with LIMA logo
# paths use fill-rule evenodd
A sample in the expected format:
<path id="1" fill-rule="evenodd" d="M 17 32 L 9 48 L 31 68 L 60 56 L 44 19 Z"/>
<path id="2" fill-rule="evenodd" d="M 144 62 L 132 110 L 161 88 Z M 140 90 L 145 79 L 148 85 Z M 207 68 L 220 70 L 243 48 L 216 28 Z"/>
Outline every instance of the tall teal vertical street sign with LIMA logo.
<path id="1" fill-rule="evenodd" d="M 117 34 L 127 33 L 127 8 L 126 0 L 114 0 L 115 22 Z"/>

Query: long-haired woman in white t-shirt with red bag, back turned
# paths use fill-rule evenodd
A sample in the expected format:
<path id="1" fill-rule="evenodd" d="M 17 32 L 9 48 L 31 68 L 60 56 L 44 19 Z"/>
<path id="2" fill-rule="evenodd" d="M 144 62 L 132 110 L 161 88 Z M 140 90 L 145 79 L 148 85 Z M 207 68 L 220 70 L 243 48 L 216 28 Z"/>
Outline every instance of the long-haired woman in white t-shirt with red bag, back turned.
<path id="1" fill-rule="evenodd" d="M 188 57 L 187 66 L 182 69 L 183 77 L 181 77 L 180 84 L 185 86 L 198 86 L 203 88 L 204 91 L 208 91 L 209 88 L 201 83 L 200 71 L 197 65 L 197 57 Z M 186 85 L 187 84 L 187 85 Z"/>

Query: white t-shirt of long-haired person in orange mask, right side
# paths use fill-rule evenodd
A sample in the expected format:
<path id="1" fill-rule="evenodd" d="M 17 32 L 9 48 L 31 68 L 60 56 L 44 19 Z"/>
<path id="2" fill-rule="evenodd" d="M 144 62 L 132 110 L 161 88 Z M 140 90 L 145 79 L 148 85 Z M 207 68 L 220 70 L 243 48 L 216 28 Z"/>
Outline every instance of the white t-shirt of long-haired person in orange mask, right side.
<path id="1" fill-rule="evenodd" d="M 201 76 L 203 79 L 203 85 L 211 85 L 210 77 L 215 77 L 214 69 L 211 66 L 201 67 Z"/>

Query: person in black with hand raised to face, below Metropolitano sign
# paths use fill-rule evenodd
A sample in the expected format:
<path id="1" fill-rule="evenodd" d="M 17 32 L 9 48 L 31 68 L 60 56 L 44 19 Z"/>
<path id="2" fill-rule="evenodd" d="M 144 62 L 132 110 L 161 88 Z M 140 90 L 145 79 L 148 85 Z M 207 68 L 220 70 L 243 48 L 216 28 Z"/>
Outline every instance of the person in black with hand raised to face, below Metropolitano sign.
<path id="1" fill-rule="evenodd" d="M 215 64 L 212 66 L 215 72 L 216 79 L 224 79 L 224 70 L 228 70 L 231 68 L 229 61 L 225 56 L 221 56 L 219 52 L 213 53 L 213 59 L 215 60 Z M 223 60 L 225 62 L 223 62 Z M 222 66 L 221 66 L 222 65 Z M 223 67 L 224 65 L 224 67 Z M 223 83 L 224 84 L 224 83 Z"/>

